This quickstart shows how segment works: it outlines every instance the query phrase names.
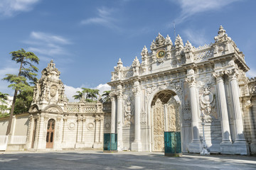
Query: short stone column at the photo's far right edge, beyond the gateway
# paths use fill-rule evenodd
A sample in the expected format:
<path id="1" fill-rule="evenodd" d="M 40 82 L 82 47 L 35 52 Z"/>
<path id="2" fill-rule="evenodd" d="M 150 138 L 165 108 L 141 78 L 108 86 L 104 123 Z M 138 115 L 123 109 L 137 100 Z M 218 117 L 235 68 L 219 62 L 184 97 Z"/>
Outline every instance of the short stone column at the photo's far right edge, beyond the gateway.
<path id="1" fill-rule="evenodd" d="M 250 101 L 250 97 L 244 98 L 244 111 L 247 112 L 247 120 L 250 127 L 250 135 L 251 135 L 251 142 L 250 142 L 250 152 L 252 154 L 256 154 L 256 135 L 255 135 L 255 128 L 253 125 L 252 119 L 252 103 Z"/>

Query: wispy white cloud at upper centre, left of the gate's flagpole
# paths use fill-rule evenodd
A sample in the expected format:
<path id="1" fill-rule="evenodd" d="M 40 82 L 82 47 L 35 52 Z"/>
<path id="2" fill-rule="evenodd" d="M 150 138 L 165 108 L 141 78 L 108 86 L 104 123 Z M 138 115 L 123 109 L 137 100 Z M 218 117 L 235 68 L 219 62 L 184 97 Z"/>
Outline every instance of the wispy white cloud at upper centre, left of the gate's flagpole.
<path id="1" fill-rule="evenodd" d="M 100 24 L 102 26 L 106 26 L 108 28 L 115 28 L 118 30 L 119 28 L 115 24 L 117 19 L 113 17 L 113 13 L 113 8 L 97 8 L 97 17 L 87 18 L 85 20 L 82 20 L 80 23 L 82 25 Z"/>

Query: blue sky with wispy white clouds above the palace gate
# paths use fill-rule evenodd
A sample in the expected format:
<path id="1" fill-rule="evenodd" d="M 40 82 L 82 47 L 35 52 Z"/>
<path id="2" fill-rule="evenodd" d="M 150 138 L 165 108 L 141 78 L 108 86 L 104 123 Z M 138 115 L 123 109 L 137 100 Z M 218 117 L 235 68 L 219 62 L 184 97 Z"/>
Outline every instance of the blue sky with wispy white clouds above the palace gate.
<path id="1" fill-rule="evenodd" d="M 254 0 L 0 0 L 0 79 L 16 74 L 9 52 L 34 52 L 41 70 L 53 59 L 68 98 L 81 87 L 108 89 L 119 58 L 129 66 L 158 33 L 193 46 L 214 42 L 220 25 L 256 76 Z M 13 95 L 8 83 L 0 91 Z"/>

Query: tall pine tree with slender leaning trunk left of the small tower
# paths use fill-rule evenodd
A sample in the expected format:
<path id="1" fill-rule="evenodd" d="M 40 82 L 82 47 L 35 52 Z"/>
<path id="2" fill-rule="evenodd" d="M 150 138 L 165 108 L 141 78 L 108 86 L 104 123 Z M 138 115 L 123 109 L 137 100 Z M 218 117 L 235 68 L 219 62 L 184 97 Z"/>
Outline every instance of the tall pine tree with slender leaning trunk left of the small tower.
<path id="1" fill-rule="evenodd" d="M 20 67 L 18 69 L 18 74 L 6 74 L 6 77 L 4 78 L 4 80 L 9 81 L 10 83 L 8 87 L 14 89 L 14 99 L 11 104 L 11 113 L 6 135 L 9 135 L 11 131 L 11 120 L 14 115 L 14 107 L 18 92 L 21 93 L 22 91 L 31 91 L 31 89 L 33 89 L 27 82 L 27 79 L 32 81 L 32 83 L 36 83 L 36 72 L 38 72 L 38 68 L 34 66 L 33 63 L 38 64 L 39 62 L 38 57 L 33 52 L 26 52 L 23 48 L 18 51 L 10 52 L 10 54 L 11 60 L 20 64 Z"/>

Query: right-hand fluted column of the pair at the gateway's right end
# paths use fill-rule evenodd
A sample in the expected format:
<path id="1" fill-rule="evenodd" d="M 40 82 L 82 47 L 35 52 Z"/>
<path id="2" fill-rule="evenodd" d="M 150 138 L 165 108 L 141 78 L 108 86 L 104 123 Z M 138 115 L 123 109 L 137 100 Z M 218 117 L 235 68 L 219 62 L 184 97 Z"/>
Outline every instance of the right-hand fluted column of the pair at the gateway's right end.
<path id="1" fill-rule="evenodd" d="M 225 74 L 228 74 L 230 81 L 231 96 L 233 99 L 233 108 L 234 108 L 234 124 L 235 124 L 235 142 L 236 146 L 234 147 L 234 154 L 247 154 L 247 143 L 245 141 L 245 135 L 242 125 L 242 112 L 240 108 L 239 100 L 239 86 L 238 86 L 238 71 L 236 69 L 231 69 L 225 71 Z"/>

